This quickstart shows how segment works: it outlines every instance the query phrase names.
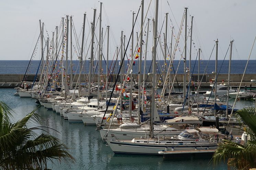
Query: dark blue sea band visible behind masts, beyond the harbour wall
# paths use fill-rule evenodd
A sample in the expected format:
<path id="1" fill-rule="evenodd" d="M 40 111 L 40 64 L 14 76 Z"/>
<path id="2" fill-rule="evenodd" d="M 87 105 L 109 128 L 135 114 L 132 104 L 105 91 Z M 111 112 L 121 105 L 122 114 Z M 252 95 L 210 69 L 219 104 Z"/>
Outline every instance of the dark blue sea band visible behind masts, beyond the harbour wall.
<path id="1" fill-rule="evenodd" d="M 167 66 L 168 66 L 168 62 L 169 61 L 167 61 Z M 195 62 L 196 62 L 196 64 L 195 64 Z M 200 61 L 200 68 L 201 68 L 200 73 L 201 74 L 203 74 L 203 72 L 205 71 L 205 68 L 207 66 L 207 62 L 208 62 L 207 60 L 201 60 Z M 221 67 L 222 62 L 223 62 L 222 60 L 218 61 L 218 70 L 221 69 L 221 72 L 220 72 L 221 74 L 228 74 L 229 61 L 225 60 L 224 63 L 223 63 L 223 66 Z M 232 62 L 231 62 L 231 74 L 243 74 L 246 62 L 247 62 L 247 60 L 232 60 Z M 28 63 L 29 63 L 29 61 L 25 61 L 25 60 L 20 60 L 20 61 L 18 61 L 18 60 L 13 60 L 13 61 L 0 60 L 0 68 L 1 68 L 0 74 L 25 74 Z M 112 61 L 108 62 L 108 68 L 109 69 L 110 69 L 111 63 L 112 63 Z M 177 60 L 175 60 L 174 63 L 173 63 L 175 72 L 177 70 L 178 63 L 179 63 L 179 61 L 177 61 Z M 75 61 L 73 61 L 73 64 L 74 64 L 73 71 L 78 70 L 78 72 L 79 72 L 79 68 L 78 68 L 79 61 L 75 60 Z M 119 61 L 116 62 L 114 73 L 117 72 L 116 67 L 118 66 L 118 64 L 119 64 Z M 124 64 L 123 64 L 124 65 L 124 70 L 126 70 L 128 68 L 127 64 L 128 64 L 128 61 L 125 60 Z M 39 65 L 38 60 L 32 60 L 30 66 L 28 67 L 27 74 L 36 74 L 36 70 L 38 68 L 38 65 Z M 94 62 L 94 66 L 95 65 L 96 64 Z M 161 67 L 163 65 L 164 65 L 163 60 L 158 61 L 157 67 L 156 67 L 157 73 L 161 73 Z M 195 68 L 194 68 L 194 65 L 195 65 Z M 142 62 L 142 66 L 144 66 L 144 62 Z M 146 68 L 147 73 L 150 70 L 152 71 L 151 61 L 147 61 L 146 66 L 147 66 L 147 68 Z M 256 74 L 255 66 L 256 66 L 256 60 L 250 60 L 249 63 L 248 63 L 248 66 L 247 66 L 246 74 Z M 106 72 L 106 63 L 105 63 L 105 61 L 102 62 L 102 67 L 103 67 L 103 73 L 105 73 Z M 113 62 L 113 67 L 114 67 L 114 62 Z M 112 70 L 113 70 L 113 67 L 112 67 Z M 188 67 L 188 61 L 187 61 L 187 67 Z M 191 61 L 191 68 L 192 68 L 192 71 L 193 71 L 193 68 L 194 68 L 194 74 L 197 74 L 198 61 Z M 95 69 L 95 67 L 94 67 L 94 69 Z M 118 66 L 118 69 L 119 69 L 119 66 Z M 58 71 L 58 70 L 60 70 L 59 63 L 57 63 L 57 67 L 56 67 L 56 71 Z M 96 74 L 98 72 L 97 70 L 98 69 L 96 67 Z M 133 74 L 138 73 L 138 61 L 135 62 L 135 65 L 133 66 L 132 70 L 133 70 Z M 69 71 L 70 71 L 70 69 L 69 69 Z M 89 61 L 85 61 L 82 73 L 87 74 L 88 71 L 89 71 Z M 191 71 L 191 73 L 192 73 L 192 71 Z M 208 67 L 206 68 L 206 74 L 211 74 L 212 71 L 215 71 L 215 61 L 214 60 L 209 61 Z M 143 67 L 142 67 L 142 73 L 143 73 Z M 178 74 L 184 73 L 183 61 L 181 61 L 181 64 L 179 66 L 179 69 L 178 69 L 177 73 Z"/>

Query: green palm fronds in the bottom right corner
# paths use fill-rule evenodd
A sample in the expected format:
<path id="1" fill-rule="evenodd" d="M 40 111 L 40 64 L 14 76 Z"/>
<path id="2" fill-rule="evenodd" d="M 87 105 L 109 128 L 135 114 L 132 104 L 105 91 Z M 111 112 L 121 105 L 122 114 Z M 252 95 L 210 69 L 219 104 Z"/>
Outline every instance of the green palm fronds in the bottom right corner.
<path id="1" fill-rule="evenodd" d="M 249 136 L 245 145 L 231 141 L 224 141 L 219 144 L 213 155 L 213 162 L 227 161 L 229 168 L 249 170 L 256 168 L 256 112 L 255 108 L 244 108 L 237 112 L 244 122 L 242 128 Z"/>

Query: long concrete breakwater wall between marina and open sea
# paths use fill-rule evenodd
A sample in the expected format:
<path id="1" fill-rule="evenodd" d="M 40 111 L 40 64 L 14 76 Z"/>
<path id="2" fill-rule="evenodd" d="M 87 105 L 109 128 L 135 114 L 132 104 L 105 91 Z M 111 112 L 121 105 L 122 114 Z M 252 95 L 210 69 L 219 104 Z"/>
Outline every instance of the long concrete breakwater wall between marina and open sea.
<path id="1" fill-rule="evenodd" d="M 143 75 L 141 74 L 141 76 L 143 77 Z M 163 75 L 157 74 L 157 80 L 158 80 L 158 86 L 161 87 L 163 85 L 162 83 L 162 77 Z M 231 74 L 230 75 L 230 86 L 231 87 L 238 87 L 240 85 L 240 81 L 242 79 L 242 74 Z M 14 88 L 14 87 L 18 87 L 21 85 L 22 79 L 23 79 L 24 75 L 20 75 L 20 74 L 1 74 L 0 75 L 0 88 Z M 59 75 L 60 77 L 60 75 Z M 69 80 L 69 75 L 68 75 L 68 80 Z M 73 85 L 75 86 L 75 83 L 78 80 L 79 75 L 74 75 L 74 83 Z M 103 82 L 105 82 L 105 75 L 101 75 L 101 80 L 103 80 Z M 114 82 L 116 80 L 116 75 L 112 75 L 109 76 L 108 81 L 110 82 Z M 183 87 L 183 74 L 176 74 L 175 77 L 175 81 L 174 81 L 174 87 Z M 187 86 L 188 86 L 188 76 L 187 77 Z M 200 80 L 202 79 L 201 82 L 201 87 L 209 87 L 210 85 L 210 81 L 212 79 L 214 79 L 214 74 L 206 74 L 206 75 L 200 75 Z M 26 81 L 32 81 L 34 80 L 35 75 L 26 75 L 25 80 Z M 39 75 L 37 75 L 36 77 L 36 81 L 39 81 Z M 97 75 L 94 75 L 93 80 L 96 83 L 97 82 Z M 135 80 L 136 82 L 138 82 L 138 74 L 133 74 L 132 75 L 132 79 Z M 171 83 L 173 82 L 174 79 L 174 74 L 171 75 Z M 193 75 L 192 76 L 192 80 L 195 83 L 195 86 L 197 86 L 197 75 Z M 227 79 L 228 79 L 228 74 L 220 74 L 217 82 L 218 83 L 227 83 Z M 246 74 L 244 76 L 244 80 L 242 82 L 242 86 L 252 86 L 255 87 L 256 83 L 255 82 L 251 82 L 251 80 L 256 79 L 256 74 Z M 61 79 L 60 79 L 61 80 Z M 83 74 L 81 75 L 81 82 L 86 82 L 86 80 L 88 80 L 88 75 L 87 74 Z M 152 76 L 146 76 L 146 83 L 148 86 L 151 85 L 151 81 L 152 80 Z M 57 80 L 59 81 L 59 79 Z"/>

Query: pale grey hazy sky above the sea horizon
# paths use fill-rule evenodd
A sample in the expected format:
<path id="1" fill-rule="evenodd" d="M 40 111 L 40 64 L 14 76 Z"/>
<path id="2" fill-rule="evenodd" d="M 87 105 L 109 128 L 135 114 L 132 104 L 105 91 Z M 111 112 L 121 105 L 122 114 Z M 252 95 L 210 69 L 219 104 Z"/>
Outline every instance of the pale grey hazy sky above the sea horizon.
<path id="1" fill-rule="evenodd" d="M 154 18 L 155 0 L 144 0 L 144 18 Z M 114 57 L 116 46 L 120 46 L 121 30 L 126 35 L 126 43 L 129 39 L 132 28 L 132 11 L 136 14 L 139 10 L 140 0 L 102 0 L 102 27 L 105 36 L 106 26 L 110 26 L 110 58 Z M 171 27 L 174 26 L 177 37 L 179 25 L 181 24 L 184 8 L 188 8 L 188 32 L 191 25 L 191 16 L 194 16 L 192 40 L 192 59 L 196 58 L 197 49 L 202 49 L 202 59 L 208 60 L 213 49 L 215 40 L 219 40 L 218 58 L 223 59 L 231 40 L 234 40 L 233 59 L 247 60 L 254 38 L 256 36 L 256 1 L 254 0 L 159 0 L 158 31 L 161 31 L 165 21 L 165 13 L 168 14 L 167 26 L 167 44 L 170 46 Z M 148 9 L 149 7 L 149 9 Z M 39 19 L 45 24 L 45 33 L 48 32 L 49 38 L 52 37 L 52 31 L 55 26 L 59 26 L 61 17 L 72 15 L 74 27 L 79 32 L 82 28 L 83 14 L 86 12 L 85 37 L 90 41 L 90 23 L 93 20 L 93 9 L 96 9 L 96 21 L 100 10 L 100 1 L 95 0 L 11 0 L 0 1 L 0 60 L 29 60 L 36 39 L 39 35 Z M 148 10 L 148 13 L 147 13 Z M 145 16 L 147 13 L 147 16 Z M 135 16 L 136 16 L 135 14 Z M 141 14 L 139 13 L 135 24 L 135 32 L 140 30 Z M 143 26 L 146 28 L 147 20 Z M 185 23 L 184 23 L 185 25 Z M 96 26 L 95 36 L 98 36 L 98 24 Z M 152 22 L 150 22 L 149 45 L 152 46 Z M 183 27 L 184 30 L 184 27 Z M 163 32 L 165 24 L 160 33 L 160 46 L 163 44 Z M 179 40 L 179 48 L 182 51 L 184 47 L 184 32 Z M 44 35 L 47 37 L 47 35 Z M 74 37 L 74 36 L 73 36 Z M 135 33 L 135 39 L 136 33 Z M 79 39 L 80 40 L 80 39 Z M 145 32 L 143 40 L 146 40 Z M 75 40 L 73 40 L 75 41 Z M 135 40 L 136 41 L 136 40 Z M 188 39 L 188 51 L 189 52 Z M 81 40 L 79 41 L 81 44 Z M 135 43 L 136 44 L 136 43 Z M 174 42 L 173 42 L 174 44 Z M 106 51 L 106 36 L 103 42 Z M 142 51 L 144 52 L 145 46 Z M 85 51 L 89 47 L 86 46 Z M 130 48 L 130 47 L 129 47 Z M 254 47 L 251 59 L 256 59 L 256 48 Z M 128 49 L 128 53 L 130 53 Z M 150 51 L 150 50 L 149 50 Z M 39 54 L 39 53 L 38 53 Z M 162 59 L 161 49 L 158 50 L 159 58 Z M 176 53 L 176 60 L 182 56 Z M 150 59 L 149 55 L 149 59 Z M 226 57 L 228 58 L 228 57 Z M 39 60 L 39 56 L 35 58 Z M 215 51 L 211 56 L 215 60 Z"/>

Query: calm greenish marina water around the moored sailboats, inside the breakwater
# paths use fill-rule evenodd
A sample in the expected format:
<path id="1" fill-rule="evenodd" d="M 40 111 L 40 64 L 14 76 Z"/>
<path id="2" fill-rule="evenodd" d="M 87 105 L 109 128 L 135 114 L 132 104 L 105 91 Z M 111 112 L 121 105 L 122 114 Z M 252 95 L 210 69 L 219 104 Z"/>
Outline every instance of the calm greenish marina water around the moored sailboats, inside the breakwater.
<path id="1" fill-rule="evenodd" d="M 7 103 L 16 114 L 14 121 L 21 119 L 37 106 L 35 99 L 14 96 L 14 89 L 0 89 L 0 100 Z M 234 101 L 234 100 L 233 100 Z M 236 108 L 254 106 L 252 101 L 239 101 Z M 40 107 L 36 110 L 40 114 L 40 125 L 54 130 L 46 129 L 51 135 L 58 137 L 62 143 L 70 148 L 70 153 L 76 159 L 75 164 L 50 165 L 53 170 L 226 170 L 226 164 L 213 167 L 209 158 L 163 159 L 161 156 L 141 155 L 114 155 L 112 150 L 102 142 L 100 133 L 94 126 L 84 126 L 82 123 L 69 123 L 52 110 Z M 32 126 L 32 124 L 30 124 Z M 38 131 L 43 133 L 43 131 Z"/>

